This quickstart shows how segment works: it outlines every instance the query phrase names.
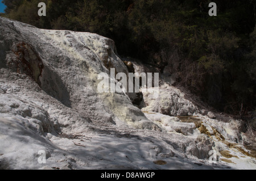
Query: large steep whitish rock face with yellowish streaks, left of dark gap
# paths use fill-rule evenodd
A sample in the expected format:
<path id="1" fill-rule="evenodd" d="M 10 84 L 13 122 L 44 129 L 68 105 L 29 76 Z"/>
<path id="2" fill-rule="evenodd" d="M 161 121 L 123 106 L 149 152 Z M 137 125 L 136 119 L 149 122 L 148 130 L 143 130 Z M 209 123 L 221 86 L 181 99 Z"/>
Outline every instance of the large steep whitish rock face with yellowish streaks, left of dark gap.
<path id="1" fill-rule="evenodd" d="M 126 94 L 97 91 L 101 81 L 97 80 L 98 74 L 109 74 L 110 68 L 128 73 L 115 54 L 113 40 L 93 33 L 40 30 L 1 18 L 1 35 L 4 34 L 7 36 L 2 37 L 1 47 L 7 46 L 9 51 L 4 52 L 6 57 L 1 58 L 1 64 L 27 74 L 65 106 L 76 108 L 92 120 L 105 117 L 109 123 L 118 119 L 131 122 L 134 127 L 157 129 Z"/>

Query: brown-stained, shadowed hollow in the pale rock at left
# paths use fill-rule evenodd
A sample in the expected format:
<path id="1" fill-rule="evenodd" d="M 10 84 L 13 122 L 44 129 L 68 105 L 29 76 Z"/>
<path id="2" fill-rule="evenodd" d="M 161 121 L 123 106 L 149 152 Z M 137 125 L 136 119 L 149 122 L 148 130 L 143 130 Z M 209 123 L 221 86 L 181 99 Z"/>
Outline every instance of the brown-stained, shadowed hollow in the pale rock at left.
<path id="1" fill-rule="evenodd" d="M 69 92 L 60 76 L 43 64 L 42 58 L 28 43 L 18 43 L 12 49 L 15 58 L 7 61 L 13 71 L 30 76 L 48 95 L 71 107 Z"/>

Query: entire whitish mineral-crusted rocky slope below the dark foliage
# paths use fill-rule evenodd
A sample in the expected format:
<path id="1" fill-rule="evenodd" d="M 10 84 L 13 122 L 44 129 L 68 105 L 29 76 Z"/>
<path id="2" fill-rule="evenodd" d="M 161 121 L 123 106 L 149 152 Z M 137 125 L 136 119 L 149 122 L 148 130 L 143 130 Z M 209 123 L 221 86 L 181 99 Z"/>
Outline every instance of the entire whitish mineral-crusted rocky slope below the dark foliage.
<path id="1" fill-rule="evenodd" d="M 106 37 L 0 18 L 0 168 L 256 169 L 243 121 L 201 115 L 162 78 L 158 98 L 97 91 L 99 73 L 131 65 L 150 71 Z"/>

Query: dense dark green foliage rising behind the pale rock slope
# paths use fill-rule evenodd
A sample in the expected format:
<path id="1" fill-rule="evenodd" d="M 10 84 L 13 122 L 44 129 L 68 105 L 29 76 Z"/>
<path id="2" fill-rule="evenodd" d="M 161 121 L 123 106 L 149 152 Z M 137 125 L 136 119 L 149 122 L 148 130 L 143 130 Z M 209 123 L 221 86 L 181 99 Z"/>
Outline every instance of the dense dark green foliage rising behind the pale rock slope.
<path id="1" fill-rule="evenodd" d="M 221 111 L 256 105 L 255 0 L 3 0 L 7 18 L 110 37 L 122 56 L 163 70 Z M 47 16 L 38 16 L 45 2 Z"/>

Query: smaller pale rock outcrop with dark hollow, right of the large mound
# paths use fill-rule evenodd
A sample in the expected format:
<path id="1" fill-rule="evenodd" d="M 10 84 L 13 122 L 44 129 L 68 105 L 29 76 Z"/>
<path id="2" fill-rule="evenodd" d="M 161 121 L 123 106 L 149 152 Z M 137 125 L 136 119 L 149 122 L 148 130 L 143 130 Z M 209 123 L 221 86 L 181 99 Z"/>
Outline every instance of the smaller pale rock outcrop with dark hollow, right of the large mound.
<path id="1" fill-rule="evenodd" d="M 123 60 L 127 68 L 134 73 L 152 73 L 152 79 L 154 79 L 154 73 L 160 74 L 159 87 L 156 87 L 159 90 L 158 96 L 151 94 L 149 91 L 140 94 L 129 94 L 130 99 L 142 108 L 142 111 L 159 112 L 169 116 L 191 116 L 200 112 L 199 108 L 184 98 L 183 92 L 164 81 L 165 74 L 161 74 L 157 68 L 143 65 L 129 58 L 123 58 Z M 154 81 L 152 81 L 152 87 L 155 87 Z"/>

